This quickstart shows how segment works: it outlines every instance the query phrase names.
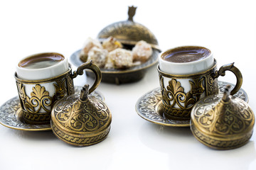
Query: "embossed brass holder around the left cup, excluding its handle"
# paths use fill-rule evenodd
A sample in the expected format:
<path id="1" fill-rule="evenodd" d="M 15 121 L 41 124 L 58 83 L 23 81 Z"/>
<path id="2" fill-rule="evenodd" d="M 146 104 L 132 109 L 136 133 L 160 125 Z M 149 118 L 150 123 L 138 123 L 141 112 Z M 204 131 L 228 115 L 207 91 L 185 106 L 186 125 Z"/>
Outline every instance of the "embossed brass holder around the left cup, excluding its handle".
<path id="1" fill-rule="evenodd" d="M 50 123 L 50 112 L 55 101 L 64 96 L 74 93 L 73 79 L 70 78 L 71 69 L 59 77 L 46 79 L 43 81 L 25 81 L 16 78 L 18 96 L 21 100 L 21 108 L 26 123 L 45 124 Z M 53 83 L 55 92 L 50 96 L 46 89 L 46 84 Z M 26 92 L 26 86 L 31 87 L 30 94 Z"/>

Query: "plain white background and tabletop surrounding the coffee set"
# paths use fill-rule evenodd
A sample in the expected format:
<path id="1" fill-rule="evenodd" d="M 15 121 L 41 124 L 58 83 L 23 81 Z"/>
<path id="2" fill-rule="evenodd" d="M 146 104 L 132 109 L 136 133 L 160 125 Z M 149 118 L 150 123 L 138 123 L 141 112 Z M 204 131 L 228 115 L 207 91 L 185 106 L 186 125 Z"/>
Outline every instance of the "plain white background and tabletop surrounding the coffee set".
<path id="1" fill-rule="evenodd" d="M 0 1 L 0 105 L 17 96 L 18 60 L 38 52 L 70 57 L 87 37 L 127 20 L 149 28 L 161 50 L 202 45 L 214 52 L 218 67 L 235 62 L 242 89 L 256 112 L 256 6 L 254 1 Z M 74 67 L 75 68 L 75 67 Z M 235 83 L 233 74 L 219 80 Z M 84 76 L 75 85 L 86 83 Z M 73 147 L 52 132 L 24 132 L 0 125 L 0 169 L 256 169 L 255 134 L 247 145 L 218 151 L 205 147 L 189 128 L 168 128 L 143 120 L 137 99 L 159 86 L 156 67 L 132 84 L 101 83 L 97 88 L 112 111 L 107 139 Z"/>

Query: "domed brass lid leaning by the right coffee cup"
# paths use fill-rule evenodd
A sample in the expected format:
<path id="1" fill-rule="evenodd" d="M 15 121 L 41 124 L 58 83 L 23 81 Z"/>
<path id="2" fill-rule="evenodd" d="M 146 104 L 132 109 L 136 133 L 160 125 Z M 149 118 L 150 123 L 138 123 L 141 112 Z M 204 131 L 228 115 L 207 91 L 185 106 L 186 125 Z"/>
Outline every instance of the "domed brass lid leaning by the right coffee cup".
<path id="1" fill-rule="evenodd" d="M 198 101 L 191 111 L 191 131 L 199 142 L 214 149 L 234 149 L 252 136 L 255 116 L 240 98 L 224 94 Z"/>

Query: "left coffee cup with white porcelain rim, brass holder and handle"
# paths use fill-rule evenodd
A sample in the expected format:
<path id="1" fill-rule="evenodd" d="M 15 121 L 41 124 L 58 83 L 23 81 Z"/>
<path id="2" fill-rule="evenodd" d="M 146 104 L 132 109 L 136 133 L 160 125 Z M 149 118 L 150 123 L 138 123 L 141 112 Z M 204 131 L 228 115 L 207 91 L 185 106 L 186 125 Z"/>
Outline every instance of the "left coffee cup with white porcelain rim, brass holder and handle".
<path id="1" fill-rule="evenodd" d="M 31 55 L 18 62 L 14 77 L 25 123 L 50 123 L 55 101 L 75 93 L 73 79 L 82 75 L 84 69 L 96 74 L 91 93 L 101 80 L 100 69 L 92 62 L 85 62 L 73 73 L 67 58 L 57 52 Z"/>

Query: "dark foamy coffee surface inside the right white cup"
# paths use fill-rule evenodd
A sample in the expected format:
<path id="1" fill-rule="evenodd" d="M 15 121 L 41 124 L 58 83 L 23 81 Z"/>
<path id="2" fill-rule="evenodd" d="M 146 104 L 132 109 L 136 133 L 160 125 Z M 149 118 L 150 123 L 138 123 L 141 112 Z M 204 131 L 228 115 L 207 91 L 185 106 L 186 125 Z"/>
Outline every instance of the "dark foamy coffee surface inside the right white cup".
<path id="1" fill-rule="evenodd" d="M 161 57 L 167 62 L 194 62 L 210 56 L 210 50 L 205 47 L 176 47 L 165 52 Z"/>

